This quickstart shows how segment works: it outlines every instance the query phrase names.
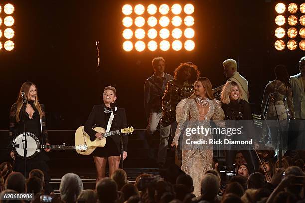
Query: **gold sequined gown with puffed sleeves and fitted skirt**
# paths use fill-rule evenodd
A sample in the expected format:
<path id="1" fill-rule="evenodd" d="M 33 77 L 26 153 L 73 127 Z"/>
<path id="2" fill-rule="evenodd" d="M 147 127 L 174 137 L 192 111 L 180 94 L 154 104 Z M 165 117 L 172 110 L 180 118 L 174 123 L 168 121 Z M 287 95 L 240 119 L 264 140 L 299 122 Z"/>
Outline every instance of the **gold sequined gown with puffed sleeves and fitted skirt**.
<path id="1" fill-rule="evenodd" d="M 186 135 L 186 128 L 203 128 L 210 127 L 211 120 L 223 120 L 224 112 L 221 108 L 220 101 L 213 99 L 209 100 L 209 110 L 206 115 L 200 115 L 195 99 L 183 99 L 176 107 L 176 119 L 178 122 L 177 131 L 173 142 L 179 142 L 179 137 L 183 131 L 182 146 L 182 166 L 181 169 L 193 178 L 194 194 L 200 196 L 200 183 L 204 173 L 212 168 L 213 162 L 213 145 L 190 145 L 186 144 L 186 140 L 208 140 L 213 139 L 213 135 L 208 134 L 191 134 Z"/>

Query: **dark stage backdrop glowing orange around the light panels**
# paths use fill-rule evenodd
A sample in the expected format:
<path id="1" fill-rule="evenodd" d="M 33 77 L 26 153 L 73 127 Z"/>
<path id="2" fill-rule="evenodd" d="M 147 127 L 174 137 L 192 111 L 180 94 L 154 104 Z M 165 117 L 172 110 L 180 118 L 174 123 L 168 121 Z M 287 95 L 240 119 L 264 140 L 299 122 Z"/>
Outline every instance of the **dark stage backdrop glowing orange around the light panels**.
<path id="1" fill-rule="evenodd" d="M 295 75 L 304 55 L 300 49 L 274 49 L 274 6 L 278 1 L 0 0 L 2 8 L 7 2 L 15 6 L 15 49 L 0 51 L 2 130 L 8 129 L 10 107 L 25 81 L 37 85 L 39 101 L 46 105 L 48 129 L 83 125 L 93 104 L 101 103 L 107 85 L 116 87 L 116 104 L 126 108 L 128 124 L 145 128 L 143 85 L 153 74 L 152 59 L 158 56 L 165 58 L 170 74 L 181 62 L 193 62 L 201 76 L 210 78 L 213 88 L 226 81 L 222 62 L 237 60 L 238 71 L 249 81 L 252 110 L 259 113 L 275 65 L 285 64 L 289 74 Z M 195 50 L 123 51 L 122 6 L 160 2 L 194 4 Z M 300 1 L 289 2 L 300 5 Z M 100 70 L 95 40 L 100 41 Z"/>

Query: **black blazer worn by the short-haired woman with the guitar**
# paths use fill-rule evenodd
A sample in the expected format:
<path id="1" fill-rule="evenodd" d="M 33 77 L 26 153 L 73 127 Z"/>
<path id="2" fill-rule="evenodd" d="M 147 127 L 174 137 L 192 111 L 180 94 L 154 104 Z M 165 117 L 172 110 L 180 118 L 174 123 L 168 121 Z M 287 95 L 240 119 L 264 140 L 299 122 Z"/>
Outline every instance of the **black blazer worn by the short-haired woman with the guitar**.
<path id="1" fill-rule="evenodd" d="M 105 115 L 104 115 L 104 104 L 100 105 L 94 105 L 92 108 L 92 111 L 84 125 L 85 132 L 90 136 L 90 139 L 93 141 L 95 140 L 95 134 L 97 133 L 94 128 L 94 125 L 102 128 L 107 128 L 107 123 L 105 121 Z M 112 125 L 110 127 L 110 131 L 113 130 L 120 130 L 122 128 L 126 128 L 126 113 L 125 109 L 123 108 L 117 108 L 117 115 L 114 117 L 112 121 Z M 118 149 L 120 149 L 120 135 L 112 135 L 110 136 L 114 142 L 116 143 Z M 125 134 L 122 134 L 123 139 L 123 149 L 124 151 L 127 151 L 127 141 L 128 137 Z"/>

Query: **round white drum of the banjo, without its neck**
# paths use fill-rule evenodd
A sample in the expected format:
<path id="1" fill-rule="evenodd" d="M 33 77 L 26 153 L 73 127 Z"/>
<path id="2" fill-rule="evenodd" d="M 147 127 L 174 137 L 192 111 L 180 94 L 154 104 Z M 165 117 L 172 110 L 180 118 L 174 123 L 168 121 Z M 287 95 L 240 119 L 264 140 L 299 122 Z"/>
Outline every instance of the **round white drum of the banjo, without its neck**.
<path id="1" fill-rule="evenodd" d="M 37 144 L 39 144 L 39 140 L 38 138 L 33 134 L 33 133 L 26 133 L 26 140 L 27 140 L 27 154 L 26 157 L 27 158 L 32 158 L 36 153 L 37 150 L 39 151 L 39 149 L 37 149 Z M 24 133 L 19 134 L 16 138 L 15 138 L 15 145 L 19 145 L 19 147 L 15 147 L 15 151 L 17 153 L 17 155 L 21 158 L 24 158 Z"/>

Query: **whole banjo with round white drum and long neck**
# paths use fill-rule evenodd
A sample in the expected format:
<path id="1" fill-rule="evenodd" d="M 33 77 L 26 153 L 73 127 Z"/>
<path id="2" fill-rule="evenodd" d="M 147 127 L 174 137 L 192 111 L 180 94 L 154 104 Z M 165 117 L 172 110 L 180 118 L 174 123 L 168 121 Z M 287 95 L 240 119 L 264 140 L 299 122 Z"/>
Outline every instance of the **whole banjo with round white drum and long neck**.
<path id="1" fill-rule="evenodd" d="M 19 134 L 13 141 L 13 147 L 18 157 L 24 158 L 24 133 Z M 86 145 L 78 145 L 78 146 L 66 146 L 65 143 L 63 145 L 41 145 L 39 139 L 33 133 L 26 133 L 26 140 L 27 140 L 27 154 L 26 158 L 30 159 L 33 158 L 40 149 L 77 149 L 77 150 L 87 150 Z"/>

